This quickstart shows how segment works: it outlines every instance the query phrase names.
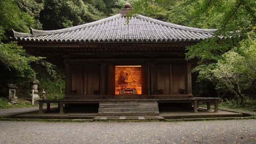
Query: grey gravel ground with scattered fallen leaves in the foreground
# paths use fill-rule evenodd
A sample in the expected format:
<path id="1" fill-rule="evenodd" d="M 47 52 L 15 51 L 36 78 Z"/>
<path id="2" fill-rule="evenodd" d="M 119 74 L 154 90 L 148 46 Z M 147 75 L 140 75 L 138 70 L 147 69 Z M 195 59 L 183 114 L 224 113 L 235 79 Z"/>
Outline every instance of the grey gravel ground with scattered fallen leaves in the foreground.
<path id="1" fill-rule="evenodd" d="M 256 120 L 195 122 L 0 121 L 1 144 L 256 144 Z"/>

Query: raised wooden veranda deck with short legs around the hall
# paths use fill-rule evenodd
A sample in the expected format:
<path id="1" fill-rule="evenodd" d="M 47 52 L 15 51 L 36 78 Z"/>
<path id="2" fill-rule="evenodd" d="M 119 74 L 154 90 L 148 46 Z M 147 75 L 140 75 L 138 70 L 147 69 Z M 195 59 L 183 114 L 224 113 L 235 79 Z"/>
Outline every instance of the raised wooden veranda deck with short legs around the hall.
<path id="1" fill-rule="evenodd" d="M 50 104 L 57 103 L 60 114 L 63 113 L 64 104 L 98 104 L 100 101 L 158 101 L 163 102 L 191 102 L 194 104 L 194 112 L 198 112 L 199 102 L 207 103 L 207 110 L 210 110 L 210 103 L 214 103 L 214 112 L 218 112 L 218 102 L 222 102 L 220 98 L 158 98 L 158 99 L 45 99 L 38 100 L 39 114 L 43 114 L 43 104 L 47 104 L 47 111 L 50 111 Z"/>

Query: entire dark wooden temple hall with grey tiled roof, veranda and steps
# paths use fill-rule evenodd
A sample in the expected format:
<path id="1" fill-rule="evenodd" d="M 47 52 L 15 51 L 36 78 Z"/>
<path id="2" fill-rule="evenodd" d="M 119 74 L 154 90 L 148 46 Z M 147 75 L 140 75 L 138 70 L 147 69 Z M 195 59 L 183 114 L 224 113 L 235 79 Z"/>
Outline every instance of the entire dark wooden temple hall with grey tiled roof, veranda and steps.
<path id="1" fill-rule="evenodd" d="M 198 102 L 215 104 L 219 98 L 192 95 L 191 63 L 185 47 L 212 36 L 216 29 L 198 29 L 132 16 L 126 23 L 125 4 L 120 14 L 60 30 L 15 32 L 27 52 L 44 56 L 64 68 L 63 99 L 38 100 L 58 103 L 60 113 L 69 104 L 96 104 L 99 115 L 158 115 L 160 105 L 194 108 Z M 68 107 L 66 107 L 68 108 Z M 66 109 L 65 108 L 65 109 Z"/>

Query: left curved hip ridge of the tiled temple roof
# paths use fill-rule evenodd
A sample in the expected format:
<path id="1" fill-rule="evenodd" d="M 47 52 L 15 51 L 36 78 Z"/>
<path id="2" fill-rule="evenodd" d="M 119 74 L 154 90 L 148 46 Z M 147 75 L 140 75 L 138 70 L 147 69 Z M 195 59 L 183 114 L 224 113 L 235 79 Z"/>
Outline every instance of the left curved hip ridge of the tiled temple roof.
<path id="1" fill-rule="evenodd" d="M 78 25 L 78 26 L 72 26 L 70 28 L 63 28 L 63 29 L 59 29 L 59 30 L 35 30 L 35 29 L 31 28 L 31 31 L 32 31 L 32 36 L 57 34 L 57 33 L 61 33 L 61 32 L 68 32 L 68 31 L 71 31 L 71 30 L 77 30 L 77 29 L 80 29 L 80 28 L 85 28 L 85 27 L 92 26 L 92 25 L 95 25 L 95 24 L 100 24 L 102 22 L 106 22 L 108 20 L 118 18 L 120 16 L 122 16 L 122 14 L 116 14 L 114 16 L 110 16 L 108 18 L 104 18 L 104 19 L 101 19 L 101 20 L 96 20 L 94 22 L 89 22 L 89 23 L 86 23 L 86 24 L 82 24 L 82 25 Z"/>

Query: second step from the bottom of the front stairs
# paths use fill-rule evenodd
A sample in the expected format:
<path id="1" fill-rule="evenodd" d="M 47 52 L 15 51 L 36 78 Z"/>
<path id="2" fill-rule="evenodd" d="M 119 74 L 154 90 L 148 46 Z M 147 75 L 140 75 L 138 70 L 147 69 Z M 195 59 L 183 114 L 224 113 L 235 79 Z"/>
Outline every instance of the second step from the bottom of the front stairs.
<path id="1" fill-rule="evenodd" d="M 99 108 L 100 112 L 158 112 L 157 108 Z"/>

